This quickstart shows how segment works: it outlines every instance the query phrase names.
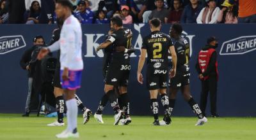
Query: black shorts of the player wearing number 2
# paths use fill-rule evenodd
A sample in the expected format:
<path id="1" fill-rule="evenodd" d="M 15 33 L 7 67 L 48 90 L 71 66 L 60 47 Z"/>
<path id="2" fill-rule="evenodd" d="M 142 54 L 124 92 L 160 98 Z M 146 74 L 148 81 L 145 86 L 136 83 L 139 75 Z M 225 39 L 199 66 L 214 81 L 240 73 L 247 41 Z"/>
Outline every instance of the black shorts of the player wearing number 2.
<path id="1" fill-rule="evenodd" d="M 167 69 L 147 69 L 147 88 L 148 90 L 167 88 L 168 71 Z"/>

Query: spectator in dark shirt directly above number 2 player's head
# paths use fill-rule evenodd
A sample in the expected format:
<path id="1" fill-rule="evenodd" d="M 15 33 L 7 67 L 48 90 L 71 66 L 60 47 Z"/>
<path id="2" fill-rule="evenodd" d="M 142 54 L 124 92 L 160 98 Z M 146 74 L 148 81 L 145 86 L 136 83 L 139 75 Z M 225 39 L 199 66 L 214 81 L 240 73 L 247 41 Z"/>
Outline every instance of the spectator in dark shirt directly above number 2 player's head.
<path id="1" fill-rule="evenodd" d="M 149 19 L 151 20 L 152 18 L 159 18 L 163 24 L 166 24 L 169 11 L 164 8 L 164 0 L 156 0 L 155 3 L 156 10 L 153 10 L 152 13 L 150 13 Z"/>

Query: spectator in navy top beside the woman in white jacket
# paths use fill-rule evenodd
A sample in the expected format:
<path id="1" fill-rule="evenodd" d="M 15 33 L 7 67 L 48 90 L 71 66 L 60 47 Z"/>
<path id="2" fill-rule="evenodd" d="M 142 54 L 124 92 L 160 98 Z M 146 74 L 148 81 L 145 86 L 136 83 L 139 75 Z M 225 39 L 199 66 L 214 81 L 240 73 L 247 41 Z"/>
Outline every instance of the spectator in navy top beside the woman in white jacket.
<path id="1" fill-rule="evenodd" d="M 182 24 L 189 24 L 189 23 L 196 23 L 196 18 L 198 14 L 202 10 L 203 6 L 198 0 L 190 0 L 190 3 L 185 6 L 180 23 Z"/>

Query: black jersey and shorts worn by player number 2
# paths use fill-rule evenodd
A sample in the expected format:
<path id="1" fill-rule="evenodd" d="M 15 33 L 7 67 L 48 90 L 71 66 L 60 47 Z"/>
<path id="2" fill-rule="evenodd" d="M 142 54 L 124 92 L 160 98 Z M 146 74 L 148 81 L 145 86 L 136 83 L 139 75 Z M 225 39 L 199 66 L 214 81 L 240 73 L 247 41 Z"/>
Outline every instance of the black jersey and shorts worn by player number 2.
<path id="1" fill-rule="evenodd" d="M 142 49 L 147 50 L 147 88 L 148 90 L 167 87 L 169 48 L 173 46 L 170 36 L 151 32 L 143 39 Z"/>

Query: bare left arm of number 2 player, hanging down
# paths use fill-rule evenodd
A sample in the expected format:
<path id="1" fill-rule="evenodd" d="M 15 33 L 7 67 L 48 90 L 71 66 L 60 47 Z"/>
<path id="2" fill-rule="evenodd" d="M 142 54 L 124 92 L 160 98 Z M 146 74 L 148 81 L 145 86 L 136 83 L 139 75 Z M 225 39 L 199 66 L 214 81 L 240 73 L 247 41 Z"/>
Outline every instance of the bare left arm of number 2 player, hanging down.
<path id="1" fill-rule="evenodd" d="M 145 63 L 146 55 L 147 55 L 147 50 L 144 48 L 141 48 L 140 60 L 138 62 L 138 71 L 137 71 L 137 80 L 141 84 L 143 84 L 143 75 L 141 74 L 141 71 Z"/>

